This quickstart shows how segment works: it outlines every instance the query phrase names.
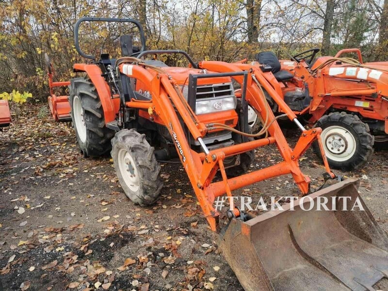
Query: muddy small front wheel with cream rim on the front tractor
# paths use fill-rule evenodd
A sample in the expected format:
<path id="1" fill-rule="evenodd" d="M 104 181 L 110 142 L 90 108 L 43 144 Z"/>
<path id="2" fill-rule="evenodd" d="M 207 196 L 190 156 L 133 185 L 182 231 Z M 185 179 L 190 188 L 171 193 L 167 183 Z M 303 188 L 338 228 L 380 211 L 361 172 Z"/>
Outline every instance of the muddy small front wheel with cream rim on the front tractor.
<path id="1" fill-rule="evenodd" d="M 146 135 L 135 129 L 120 130 L 112 139 L 114 169 L 124 193 L 135 204 L 154 203 L 163 187 L 154 151 Z"/>

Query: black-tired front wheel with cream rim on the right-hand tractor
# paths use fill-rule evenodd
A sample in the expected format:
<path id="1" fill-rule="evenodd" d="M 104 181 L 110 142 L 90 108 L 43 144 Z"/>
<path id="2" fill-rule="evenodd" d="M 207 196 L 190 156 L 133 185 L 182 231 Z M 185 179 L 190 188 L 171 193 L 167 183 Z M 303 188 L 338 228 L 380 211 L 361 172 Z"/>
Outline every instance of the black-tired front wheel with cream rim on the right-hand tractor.
<path id="1" fill-rule="evenodd" d="M 322 128 L 323 148 L 330 167 L 342 171 L 362 167 L 372 156 L 374 138 L 358 116 L 345 112 L 323 115 L 314 127 Z M 321 156 L 318 143 L 313 144 Z"/>

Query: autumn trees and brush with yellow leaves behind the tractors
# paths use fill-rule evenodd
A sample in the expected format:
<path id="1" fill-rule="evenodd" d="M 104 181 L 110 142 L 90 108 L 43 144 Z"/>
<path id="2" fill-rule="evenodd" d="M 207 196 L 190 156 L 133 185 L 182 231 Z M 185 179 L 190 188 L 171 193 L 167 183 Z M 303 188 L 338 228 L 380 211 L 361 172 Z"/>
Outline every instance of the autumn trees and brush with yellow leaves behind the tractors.
<path id="1" fill-rule="evenodd" d="M 3 0 L 0 92 L 15 89 L 45 99 L 44 53 L 58 81 L 72 78 L 72 64 L 85 61 L 73 40 L 74 23 L 82 16 L 138 19 L 148 49 L 183 49 L 196 61 L 252 59 L 268 49 L 279 57 L 312 47 L 334 54 L 349 45 L 361 47 L 366 59 L 375 59 L 387 42 L 387 7 L 384 0 Z M 80 42 L 96 55 L 117 55 L 120 33 L 135 31 L 85 25 Z"/>

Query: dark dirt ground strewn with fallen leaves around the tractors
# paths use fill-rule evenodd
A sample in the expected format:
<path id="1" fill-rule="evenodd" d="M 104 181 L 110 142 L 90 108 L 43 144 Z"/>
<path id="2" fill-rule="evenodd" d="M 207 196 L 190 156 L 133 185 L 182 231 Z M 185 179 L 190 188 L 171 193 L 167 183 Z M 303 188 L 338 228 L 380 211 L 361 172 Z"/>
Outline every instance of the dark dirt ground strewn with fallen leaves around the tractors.
<path id="1" fill-rule="evenodd" d="M 4 290 L 242 290 L 180 164 L 162 164 L 161 198 L 141 208 L 121 191 L 110 157 L 83 158 L 71 126 L 53 122 L 47 109 L 22 112 L 0 132 Z M 274 149 L 258 150 L 252 169 L 278 161 Z M 312 151 L 301 166 L 312 188 L 320 185 L 323 168 Z M 361 179 L 360 193 L 384 229 L 387 169 L 382 151 L 361 171 L 343 173 Z M 255 200 L 298 190 L 285 176 L 241 193 Z"/>

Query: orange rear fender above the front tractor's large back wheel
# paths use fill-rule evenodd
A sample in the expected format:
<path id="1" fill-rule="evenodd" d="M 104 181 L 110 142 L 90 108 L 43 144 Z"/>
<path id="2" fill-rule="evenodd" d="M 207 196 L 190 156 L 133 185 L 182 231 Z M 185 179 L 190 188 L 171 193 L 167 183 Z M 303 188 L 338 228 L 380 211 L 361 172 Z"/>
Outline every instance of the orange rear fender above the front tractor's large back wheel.
<path id="1" fill-rule="evenodd" d="M 105 79 L 101 76 L 102 71 L 95 64 L 74 64 L 74 72 L 85 72 L 94 86 L 96 87 L 98 96 L 101 101 L 104 111 L 105 124 L 115 120 L 119 110 L 119 98 L 111 98 L 111 92 Z M 117 104 L 116 104 L 117 103 Z"/>

